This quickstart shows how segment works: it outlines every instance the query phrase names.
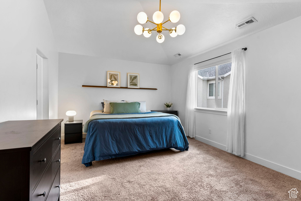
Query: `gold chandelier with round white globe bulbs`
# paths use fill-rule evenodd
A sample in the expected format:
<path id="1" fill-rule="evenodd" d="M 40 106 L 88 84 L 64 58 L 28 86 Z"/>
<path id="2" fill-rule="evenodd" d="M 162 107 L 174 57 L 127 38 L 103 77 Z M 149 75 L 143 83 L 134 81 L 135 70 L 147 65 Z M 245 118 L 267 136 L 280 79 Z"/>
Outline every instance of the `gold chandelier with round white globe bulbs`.
<path id="1" fill-rule="evenodd" d="M 160 0 L 160 9 L 159 11 L 156 11 L 153 15 L 154 22 L 148 20 L 147 14 L 144 12 L 140 12 L 137 15 L 137 20 L 140 24 L 144 24 L 147 22 L 154 23 L 157 25 L 154 29 L 144 28 L 140 24 L 136 25 L 134 28 L 134 31 L 137 35 L 141 35 L 143 33 L 143 36 L 146 38 L 151 36 L 152 31 L 157 31 L 159 34 L 157 35 L 157 42 L 162 43 L 164 41 L 164 36 L 161 34 L 162 31 L 169 31 L 169 35 L 171 37 L 176 37 L 177 35 L 182 35 L 185 32 L 185 26 L 183 24 L 179 24 L 176 27 L 173 27 L 171 29 L 167 29 L 163 24 L 165 24 L 168 21 L 171 21 L 172 23 L 177 23 L 180 20 L 180 13 L 179 11 L 172 11 L 169 14 L 169 19 L 166 22 L 163 22 L 163 13 L 161 12 L 161 0 Z M 162 23 L 163 22 L 163 23 Z"/>

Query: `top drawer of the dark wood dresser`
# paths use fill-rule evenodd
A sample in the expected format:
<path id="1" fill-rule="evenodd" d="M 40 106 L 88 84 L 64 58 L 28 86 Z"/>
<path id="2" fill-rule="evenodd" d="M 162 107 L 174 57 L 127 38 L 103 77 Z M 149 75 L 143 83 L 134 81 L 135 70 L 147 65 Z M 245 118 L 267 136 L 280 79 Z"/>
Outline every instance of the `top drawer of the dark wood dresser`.
<path id="1" fill-rule="evenodd" d="M 61 127 L 57 128 L 56 131 L 44 142 L 44 144 L 33 153 L 31 158 L 32 165 L 32 190 L 36 187 L 39 178 L 42 176 L 47 165 L 49 164 L 52 156 L 54 155 L 57 147 L 61 144 Z"/>

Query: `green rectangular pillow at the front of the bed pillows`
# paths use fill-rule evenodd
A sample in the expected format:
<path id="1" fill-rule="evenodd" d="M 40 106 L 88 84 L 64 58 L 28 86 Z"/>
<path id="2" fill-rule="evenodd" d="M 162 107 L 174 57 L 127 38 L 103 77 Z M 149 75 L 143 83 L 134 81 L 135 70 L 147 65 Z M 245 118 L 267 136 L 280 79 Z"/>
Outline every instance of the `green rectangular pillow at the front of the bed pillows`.
<path id="1" fill-rule="evenodd" d="M 140 103 L 110 103 L 111 114 L 118 113 L 139 113 Z"/>

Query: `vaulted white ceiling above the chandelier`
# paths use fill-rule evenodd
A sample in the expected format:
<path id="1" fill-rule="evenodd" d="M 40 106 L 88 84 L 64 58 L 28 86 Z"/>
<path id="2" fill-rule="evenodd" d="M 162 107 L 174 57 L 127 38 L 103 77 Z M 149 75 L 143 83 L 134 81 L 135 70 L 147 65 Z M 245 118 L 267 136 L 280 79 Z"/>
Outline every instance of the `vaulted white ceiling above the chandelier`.
<path id="1" fill-rule="evenodd" d="M 186 32 L 175 38 L 163 31 L 165 41 L 136 35 L 137 14 L 144 11 L 152 20 L 159 0 L 44 0 L 58 51 L 97 57 L 172 65 L 182 59 L 301 16 L 300 0 L 162 0 L 161 11 L 168 20 L 178 10 L 178 23 Z M 257 23 L 241 29 L 235 25 L 254 17 Z M 146 23 L 144 28 L 154 28 Z M 300 25 L 296 25 L 300 26 Z M 182 59 L 173 55 L 180 52 Z"/>

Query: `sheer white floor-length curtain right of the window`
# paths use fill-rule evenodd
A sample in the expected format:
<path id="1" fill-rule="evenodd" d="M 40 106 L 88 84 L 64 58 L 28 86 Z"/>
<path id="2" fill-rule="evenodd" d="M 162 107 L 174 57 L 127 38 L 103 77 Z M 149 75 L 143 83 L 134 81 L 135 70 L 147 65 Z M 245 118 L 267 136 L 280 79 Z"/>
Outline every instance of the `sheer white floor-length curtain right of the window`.
<path id="1" fill-rule="evenodd" d="M 232 52 L 226 142 L 226 150 L 236 156 L 244 156 L 244 117 L 244 55 L 240 48 Z"/>

